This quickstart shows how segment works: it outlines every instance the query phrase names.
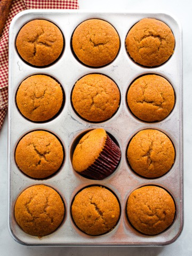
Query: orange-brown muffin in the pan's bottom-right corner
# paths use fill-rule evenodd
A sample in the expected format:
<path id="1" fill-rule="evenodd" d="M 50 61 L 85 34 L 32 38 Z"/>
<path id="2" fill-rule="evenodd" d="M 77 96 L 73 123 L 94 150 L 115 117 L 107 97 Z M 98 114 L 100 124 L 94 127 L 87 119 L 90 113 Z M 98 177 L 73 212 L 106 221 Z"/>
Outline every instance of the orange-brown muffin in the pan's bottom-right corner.
<path id="1" fill-rule="evenodd" d="M 172 224 L 175 204 L 165 189 L 145 186 L 131 193 L 126 210 L 135 229 L 146 235 L 157 235 Z"/>

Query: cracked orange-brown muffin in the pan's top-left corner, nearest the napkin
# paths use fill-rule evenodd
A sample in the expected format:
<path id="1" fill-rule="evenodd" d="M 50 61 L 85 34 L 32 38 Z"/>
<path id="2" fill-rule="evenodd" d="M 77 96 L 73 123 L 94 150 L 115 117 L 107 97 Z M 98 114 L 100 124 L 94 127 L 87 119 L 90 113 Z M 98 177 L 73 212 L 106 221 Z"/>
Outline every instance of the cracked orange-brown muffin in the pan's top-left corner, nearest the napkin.
<path id="1" fill-rule="evenodd" d="M 23 60 L 43 67 L 59 58 L 64 40 L 60 29 L 52 22 L 32 20 L 20 29 L 16 46 Z"/>

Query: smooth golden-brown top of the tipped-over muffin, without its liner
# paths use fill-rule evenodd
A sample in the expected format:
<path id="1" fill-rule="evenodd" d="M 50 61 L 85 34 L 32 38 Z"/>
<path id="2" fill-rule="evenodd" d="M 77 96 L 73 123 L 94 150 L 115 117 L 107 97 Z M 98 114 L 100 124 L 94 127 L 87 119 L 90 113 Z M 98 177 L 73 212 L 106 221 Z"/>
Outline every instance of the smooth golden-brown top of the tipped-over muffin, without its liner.
<path id="1" fill-rule="evenodd" d="M 76 172 L 83 172 L 95 162 L 105 146 L 106 139 L 106 131 L 100 128 L 87 132 L 81 138 L 74 150 L 72 160 Z"/>

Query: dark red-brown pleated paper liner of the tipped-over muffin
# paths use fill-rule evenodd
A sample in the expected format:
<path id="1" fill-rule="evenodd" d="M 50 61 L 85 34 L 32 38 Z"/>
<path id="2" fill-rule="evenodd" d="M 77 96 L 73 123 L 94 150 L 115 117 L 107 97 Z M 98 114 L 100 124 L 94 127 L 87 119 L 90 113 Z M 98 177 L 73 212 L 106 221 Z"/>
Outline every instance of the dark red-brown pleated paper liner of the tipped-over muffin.
<path id="1" fill-rule="evenodd" d="M 121 149 L 107 135 L 106 143 L 95 162 L 80 174 L 85 178 L 102 180 L 111 175 L 121 159 Z"/>

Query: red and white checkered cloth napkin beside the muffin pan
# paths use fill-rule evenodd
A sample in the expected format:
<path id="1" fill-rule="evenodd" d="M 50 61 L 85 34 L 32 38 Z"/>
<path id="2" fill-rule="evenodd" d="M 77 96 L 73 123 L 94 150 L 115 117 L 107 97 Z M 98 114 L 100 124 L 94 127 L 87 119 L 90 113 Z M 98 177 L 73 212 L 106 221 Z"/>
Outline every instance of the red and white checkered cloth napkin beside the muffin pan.
<path id="1" fill-rule="evenodd" d="M 8 105 L 8 39 L 14 15 L 26 9 L 78 9 L 78 0 L 14 0 L 0 37 L 0 130 Z M 0 17 L 1 19 L 1 17 Z"/>

